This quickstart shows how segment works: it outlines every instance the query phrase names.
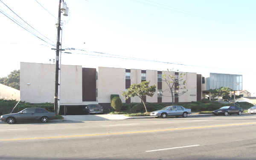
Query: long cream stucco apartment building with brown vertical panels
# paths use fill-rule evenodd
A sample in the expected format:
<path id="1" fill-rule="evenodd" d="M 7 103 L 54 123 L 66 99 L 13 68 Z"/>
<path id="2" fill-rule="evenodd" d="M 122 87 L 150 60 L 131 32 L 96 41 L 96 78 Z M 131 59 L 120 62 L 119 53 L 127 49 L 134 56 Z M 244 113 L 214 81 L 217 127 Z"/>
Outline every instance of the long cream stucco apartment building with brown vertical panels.
<path id="1" fill-rule="evenodd" d="M 61 65 L 60 104 L 61 105 L 110 105 L 111 94 L 119 94 L 122 103 L 141 102 L 138 97 L 125 100 L 122 91 L 131 84 L 150 81 L 157 85 L 154 96 L 145 96 L 146 102 L 172 102 L 163 74 L 179 76 L 184 72 L 125 69 L 112 67 L 84 68 L 78 65 Z M 185 73 L 185 90 L 175 90 L 184 94 L 175 97 L 175 102 L 199 101 L 206 90 L 204 77 L 197 73 Z M 54 102 L 55 64 L 20 62 L 20 99 L 30 103 Z"/>

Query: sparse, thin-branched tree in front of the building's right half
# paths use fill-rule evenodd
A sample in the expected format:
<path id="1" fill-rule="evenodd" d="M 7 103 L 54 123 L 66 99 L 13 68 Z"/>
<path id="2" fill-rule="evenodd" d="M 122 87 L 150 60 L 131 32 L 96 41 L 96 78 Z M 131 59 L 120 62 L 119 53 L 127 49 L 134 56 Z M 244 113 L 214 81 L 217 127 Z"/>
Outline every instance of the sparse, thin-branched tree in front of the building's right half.
<path id="1" fill-rule="evenodd" d="M 188 91 L 185 90 L 186 80 L 184 79 L 184 76 L 186 75 L 186 73 L 179 73 L 178 75 L 175 75 L 175 72 L 178 72 L 178 70 L 174 71 L 173 69 L 167 69 L 167 72 L 164 72 L 164 74 L 162 75 L 162 81 L 165 81 L 168 86 L 168 89 L 163 90 L 163 96 L 166 96 L 166 94 L 164 94 L 165 91 L 171 93 L 171 96 L 169 97 L 172 97 L 172 104 L 174 104 L 174 97 L 183 95 Z M 178 90 L 183 91 L 179 92 Z"/>

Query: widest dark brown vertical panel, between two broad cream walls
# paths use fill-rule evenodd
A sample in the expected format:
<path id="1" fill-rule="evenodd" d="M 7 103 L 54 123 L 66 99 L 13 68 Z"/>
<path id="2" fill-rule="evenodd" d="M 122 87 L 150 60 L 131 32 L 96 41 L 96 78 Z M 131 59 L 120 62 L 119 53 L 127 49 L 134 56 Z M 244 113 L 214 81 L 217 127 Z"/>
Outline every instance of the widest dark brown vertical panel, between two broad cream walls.
<path id="1" fill-rule="evenodd" d="M 82 99 L 96 101 L 96 68 L 82 68 Z"/>

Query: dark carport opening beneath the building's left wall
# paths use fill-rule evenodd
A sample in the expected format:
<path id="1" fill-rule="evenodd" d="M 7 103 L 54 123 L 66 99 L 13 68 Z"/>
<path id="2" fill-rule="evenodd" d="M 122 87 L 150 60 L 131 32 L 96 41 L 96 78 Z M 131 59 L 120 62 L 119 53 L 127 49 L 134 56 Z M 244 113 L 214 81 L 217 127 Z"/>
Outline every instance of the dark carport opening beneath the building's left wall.
<path id="1" fill-rule="evenodd" d="M 83 109 L 86 105 L 61 105 L 60 115 L 84 115 L 86 114 Z"/>

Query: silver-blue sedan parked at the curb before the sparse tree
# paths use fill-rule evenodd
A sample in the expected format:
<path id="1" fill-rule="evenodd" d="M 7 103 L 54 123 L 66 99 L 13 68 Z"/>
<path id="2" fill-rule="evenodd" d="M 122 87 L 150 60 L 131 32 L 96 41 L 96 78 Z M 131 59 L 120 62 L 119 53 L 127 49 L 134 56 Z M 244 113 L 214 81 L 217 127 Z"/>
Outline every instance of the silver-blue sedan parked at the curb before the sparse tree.
<path id="1" fill-rule="evenodd" d="M 187 117 L 191 114 L 191 109 L 186 109 L 183 106 L 167 106 L 159 111 L 153 111 L 150 116 L 166 118 L 167 116 L 183 116 Z"/>

